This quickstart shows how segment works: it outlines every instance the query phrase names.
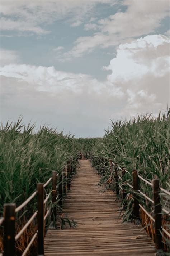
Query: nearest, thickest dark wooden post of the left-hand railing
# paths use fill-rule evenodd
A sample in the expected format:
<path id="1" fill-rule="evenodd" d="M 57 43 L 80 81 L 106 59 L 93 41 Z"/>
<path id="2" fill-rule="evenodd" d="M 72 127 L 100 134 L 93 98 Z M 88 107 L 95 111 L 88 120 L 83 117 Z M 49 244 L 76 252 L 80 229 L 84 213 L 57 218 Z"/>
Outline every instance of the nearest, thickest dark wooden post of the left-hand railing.
<path id="1" fill-rule="evenodd" d="M 4 204 L 4 256 L 15 256 L 15 204 Z"/>

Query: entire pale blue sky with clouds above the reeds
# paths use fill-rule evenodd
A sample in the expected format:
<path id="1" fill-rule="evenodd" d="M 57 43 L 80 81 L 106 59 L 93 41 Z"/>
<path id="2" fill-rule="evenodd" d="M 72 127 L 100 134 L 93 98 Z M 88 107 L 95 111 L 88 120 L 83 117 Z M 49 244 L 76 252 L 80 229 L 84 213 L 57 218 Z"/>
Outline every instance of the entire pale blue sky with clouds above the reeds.
<path id="1" fill-rule="evenodd" d="M 169 0 L 1 0 L 0 120 L 75 137 L 165 112 Z"/>

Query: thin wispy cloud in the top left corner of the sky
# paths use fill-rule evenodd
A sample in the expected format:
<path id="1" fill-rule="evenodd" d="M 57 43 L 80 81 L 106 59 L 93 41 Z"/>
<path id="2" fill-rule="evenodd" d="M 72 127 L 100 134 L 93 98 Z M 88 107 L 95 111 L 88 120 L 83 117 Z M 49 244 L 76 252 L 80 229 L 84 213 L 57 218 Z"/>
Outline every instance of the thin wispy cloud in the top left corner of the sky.
<path id="1" fill-rule="evenodd" d="M 2 0 L 1 30 L 43 35 L 50 32 L 45 25 L 64 18 L 71 26 L 79 26 L 99 2 L 112 3 L 112 0 Z"/>

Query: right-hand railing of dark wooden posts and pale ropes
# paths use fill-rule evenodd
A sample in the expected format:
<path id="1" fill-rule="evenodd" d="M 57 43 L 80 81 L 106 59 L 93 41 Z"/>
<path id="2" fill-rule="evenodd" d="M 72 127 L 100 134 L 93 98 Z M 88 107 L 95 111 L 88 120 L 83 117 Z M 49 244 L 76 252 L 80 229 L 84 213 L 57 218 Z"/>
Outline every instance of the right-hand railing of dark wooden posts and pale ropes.
<path id="1" fill-rule="evenodd" d="M 170 215 L 170 211 L 167 211 L 165 208 L 161 207 L 161 203 L 160 203 L 160 192 L 163 192 L 165 194 L 167 194 L 168 196 L 170 196 L 170 192 L 159 187 L 159 180 L 152 180 L 152 183 L 146 179 L 144 179 L 141 175 L 138 175 L 138 171 L 135 170 L 132 172 L 132 177 L 133 177 L 133 185 L 130 185 L 129 183 L 127 183 L 126 181 L 124 181 L 124 174 L 129 173 L 125 168 L 121 168 L 118 167 L 117 163 L 114 163 L 111 159 L 107 159 L 107 158 L 103 158 L 103 157 L 98 157 L 98 156 L 91 156 L 91 159 L 93 158 L 99 158 L 100 160 L 100 164 L 103 167 L 103 159 L 105 159 L 106 161 L 108 161 L 109 164 L 109 169 L 112 169 L 112 166 L 114 166 L 113 171 L 115 172 L 115 184 L 116 184 L 116 194 L 119 195 L 118 193 L 118 189 L 120 188 L 123 192 L 123 200 L 126 201 L 126 194 L 124 192 L 124 186 L 128 185 L 130 188 L 132 188 L 133 192 L 130 192 L 133 195 L 133 211 L 134 211 L 134 219 L 139 218 L 139 207 L 148 215 L 148 217 L 150 217 L 150 219 L 152 221 L 154 221 L 155 223 L 155 244 L 156 244 L 156 248 L 157 250 L 161 250 L 163 247 L 163 242 L 162 242 L 162 235 L 161 235 L 161 231 L 163 231 L 168 237 L 170 237 L 170 233 L 167 232 L 167 230 L 165 230 L 164 228 L 162 228 L 161 226 L 161 211 L 163 211 L 165 214 Z M 122 177 L 120 177 L 117 173 L 117 169 L 122 171 Z M 123 178 L 123 183 L 122 183 L 122 178 Z M 138 178 L 142 181 L 144 181 L 146 184 L 150 185 L 152 187 L 152 191 L 154 194 L 154 200 L 152 200 L 150 197 L 148 197 L 145 193 L 143 193 L 140 188 L 139 188 L 139 183 L 138 183 Z M 117 180 L 121 180 L 121 185 L 119 185 L 119 181 Z M 144 198 L 146 198 L 148 201 L 150 201 L 153 206 L 154 206 L 154 217 L 152 217 L 147 211 L 146 209 L 141 205 L 140 199 L 138 197 L 138 194 L 141 194 Z M 125 203 L 126 205 L 126 203 Z"/>

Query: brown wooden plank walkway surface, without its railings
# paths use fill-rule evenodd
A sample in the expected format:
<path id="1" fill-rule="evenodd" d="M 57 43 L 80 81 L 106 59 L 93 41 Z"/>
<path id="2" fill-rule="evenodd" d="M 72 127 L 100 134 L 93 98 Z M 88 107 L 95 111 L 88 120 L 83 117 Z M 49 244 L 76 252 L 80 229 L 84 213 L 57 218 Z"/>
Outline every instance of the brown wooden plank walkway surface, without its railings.
<path id="1" fill-rule="evenodd" d="M 80 168 L 71 181 L 63 212 L 77 228 L 49 229 L 45 237 L 45 256 L 153 256 L 154 244 L 141 225 L 123 223 L 115 194 L 101 192 L 100 176 L 89 160 L 79 160 Z"/>

